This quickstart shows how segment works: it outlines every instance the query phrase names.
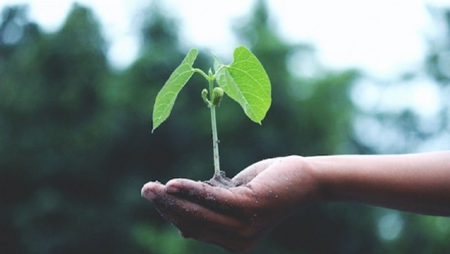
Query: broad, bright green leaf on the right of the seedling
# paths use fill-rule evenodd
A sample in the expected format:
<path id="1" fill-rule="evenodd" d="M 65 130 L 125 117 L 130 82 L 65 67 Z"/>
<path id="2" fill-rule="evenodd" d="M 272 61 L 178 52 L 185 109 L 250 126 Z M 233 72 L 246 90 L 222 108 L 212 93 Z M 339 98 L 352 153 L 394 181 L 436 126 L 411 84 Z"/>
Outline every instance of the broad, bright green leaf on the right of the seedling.
<path id="1" fill-rule="evenodd" d="M 219 86 L 236 100 L 253 122 L 264 119 L 272 103 L 269 76 L 255 55 L 246 47 L 236 47 L 233 62 L 224 65 L 214 57 L 214 69 Z"/>

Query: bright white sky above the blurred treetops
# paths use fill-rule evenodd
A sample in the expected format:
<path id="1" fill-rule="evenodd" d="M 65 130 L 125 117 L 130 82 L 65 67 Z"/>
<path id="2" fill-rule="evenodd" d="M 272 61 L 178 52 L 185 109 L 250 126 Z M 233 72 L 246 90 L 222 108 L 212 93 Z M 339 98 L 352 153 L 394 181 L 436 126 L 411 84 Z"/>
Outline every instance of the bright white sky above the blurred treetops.
<path id="1" fill-rule="evenodd" d="M 29 4 L 29 14 L 47 31 L 59 28 L 73 0 L 3 0 Z M 110 42 L 108 57 L 116 67 L 126 67 L 137 54 L 137 13 L 150 1 L 79 0 L 93 8 Z M 231 55 L 238 45 L 231 25 L 245 18 L 254 0 L 161 1 L 180 19 L 185 47 L 207 47 Z M 450 6 L 449 0 L 269 0 L 272 20 L 280 35 L 291 42 L 316 47 L 325 67 L 357 67 L 375 76 L 393 76 L 423 60 L 425 35 L 434 35 L 426 4 Z"/>

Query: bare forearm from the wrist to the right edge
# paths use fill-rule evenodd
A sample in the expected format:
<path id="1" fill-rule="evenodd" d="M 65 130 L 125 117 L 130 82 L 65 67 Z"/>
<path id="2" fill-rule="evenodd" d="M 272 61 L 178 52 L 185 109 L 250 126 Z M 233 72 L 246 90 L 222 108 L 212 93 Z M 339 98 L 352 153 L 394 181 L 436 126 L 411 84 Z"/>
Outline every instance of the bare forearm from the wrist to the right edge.
<path id="1" fill-rule="evenodd" d="M 391 156 L 313 156 L 325 201 L 450 216 L 450 151 Z"/>

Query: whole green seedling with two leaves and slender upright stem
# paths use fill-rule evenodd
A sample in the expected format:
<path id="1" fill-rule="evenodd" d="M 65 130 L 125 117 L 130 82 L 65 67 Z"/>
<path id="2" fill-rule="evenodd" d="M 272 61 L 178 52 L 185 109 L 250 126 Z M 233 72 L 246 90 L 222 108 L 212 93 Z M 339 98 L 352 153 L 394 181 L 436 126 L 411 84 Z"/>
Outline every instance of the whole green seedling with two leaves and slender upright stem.
<path id="1" fill-rule="evenodd" d="M 151 132 L 154 132 L 171 114 L 178 93 L 191 76 L 194 73 L 202 75 L 208 83 L 207 88 L 202 90 L 202 99 L 211 112 L 214 177 L 217 177 L 221 171 L 216 107 L 226 93 L 241 105 L 250 120 L 261 124 L 272 101 L 270 80 L 258 58 L 243 46 L 236 47 L 231 64 L 222 64 L 219 58 L 214 56 L 214 73 L 211 69 L 206 74 L 201 69 L 192 67 L 196 58 L 197 50 L 191 49 L 159 91 L 153 109 Z"/>

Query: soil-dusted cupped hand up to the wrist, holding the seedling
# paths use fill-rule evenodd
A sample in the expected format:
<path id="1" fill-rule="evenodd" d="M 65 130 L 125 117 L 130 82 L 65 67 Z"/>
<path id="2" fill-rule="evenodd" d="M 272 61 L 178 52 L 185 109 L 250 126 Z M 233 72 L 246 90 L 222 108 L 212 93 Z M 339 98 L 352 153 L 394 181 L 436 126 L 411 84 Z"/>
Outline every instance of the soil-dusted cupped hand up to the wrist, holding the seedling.
<path id="1" fill-rule="evenodd" d="M 301 156 L 270 158 L 238 173 L 236 187 L 188 179 L 146 183 L 142 196 L 186 238 L 246 250 L 287 219 L 299 204 L 318 200 L 318 184 Z"/>

